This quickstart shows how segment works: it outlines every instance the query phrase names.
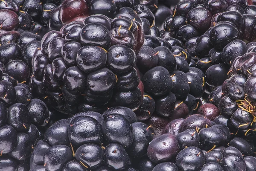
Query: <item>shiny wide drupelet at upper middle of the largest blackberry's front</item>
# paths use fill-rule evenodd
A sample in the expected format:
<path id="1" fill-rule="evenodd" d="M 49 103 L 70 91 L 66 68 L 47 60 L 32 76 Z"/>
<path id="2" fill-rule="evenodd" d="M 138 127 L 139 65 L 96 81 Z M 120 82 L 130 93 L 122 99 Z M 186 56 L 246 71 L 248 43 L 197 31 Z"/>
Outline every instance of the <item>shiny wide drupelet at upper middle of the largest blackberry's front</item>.
<path id="1" fill-rule="evenodd" d="M 81 30 L 80 40 L 83 45 L 100 46 L 108 49 L 111 37 L 108 29 L 99 23 L 86 24 Z"/>

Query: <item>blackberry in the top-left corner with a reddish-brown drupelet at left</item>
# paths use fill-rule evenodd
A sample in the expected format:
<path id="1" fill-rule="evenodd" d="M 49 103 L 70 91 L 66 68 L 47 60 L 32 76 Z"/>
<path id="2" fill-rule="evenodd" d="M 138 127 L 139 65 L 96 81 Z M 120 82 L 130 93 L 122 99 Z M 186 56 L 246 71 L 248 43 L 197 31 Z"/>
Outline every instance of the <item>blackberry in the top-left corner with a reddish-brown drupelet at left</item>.
<path id="1" fill-rule="evenodd" d="M 49 29 L 62 26 L 58 15 L 62 0 L 2 0 L 1 31 L 32 32 L 44 35 Z"/>

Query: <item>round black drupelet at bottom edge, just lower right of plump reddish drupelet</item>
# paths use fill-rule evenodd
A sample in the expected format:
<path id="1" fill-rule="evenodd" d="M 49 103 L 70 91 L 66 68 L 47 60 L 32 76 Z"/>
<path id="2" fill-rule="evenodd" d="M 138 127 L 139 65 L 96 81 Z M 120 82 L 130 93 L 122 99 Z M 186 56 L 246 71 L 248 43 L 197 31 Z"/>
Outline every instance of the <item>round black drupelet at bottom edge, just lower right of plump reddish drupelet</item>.
<path id="1" fill-rule="evenodd" d="M 204 162 L 203 151 L 193 146 L 183 149 L 176 157 L 176 165 L 183 171 L 199 170 Z"/>

